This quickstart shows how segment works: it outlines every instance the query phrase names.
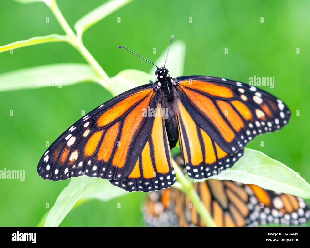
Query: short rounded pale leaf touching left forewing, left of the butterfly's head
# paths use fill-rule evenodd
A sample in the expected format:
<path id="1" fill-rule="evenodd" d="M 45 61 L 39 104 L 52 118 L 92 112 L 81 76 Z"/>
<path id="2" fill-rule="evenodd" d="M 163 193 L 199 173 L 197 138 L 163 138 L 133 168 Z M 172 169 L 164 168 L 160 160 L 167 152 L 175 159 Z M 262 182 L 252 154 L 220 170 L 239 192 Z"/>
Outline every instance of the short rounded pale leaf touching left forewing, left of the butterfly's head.
<path id="1" fill-rule="evenodd" d="M 118 95 L 139 85 L 148 84 L 149 80 L 152 78 L 153 76 L 146 72 L 134 69 L 126 69 L 112 77 L 109 85 L 113 90 L 113 93 Z"/>

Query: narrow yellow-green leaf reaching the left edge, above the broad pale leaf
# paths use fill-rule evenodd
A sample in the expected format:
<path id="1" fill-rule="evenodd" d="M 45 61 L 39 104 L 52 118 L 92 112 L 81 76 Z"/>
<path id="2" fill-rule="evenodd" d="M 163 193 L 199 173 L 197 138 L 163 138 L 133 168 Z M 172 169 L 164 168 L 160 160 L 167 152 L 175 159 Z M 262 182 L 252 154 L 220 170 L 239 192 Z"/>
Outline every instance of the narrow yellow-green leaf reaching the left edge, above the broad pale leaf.
<path id="1" fill-rule="evenodd" d="M 47 43 L 47 42 L 59 42 L 59 41 L 67 41 L 67 36 L 64 35 L 59 35 L 59 34 L 50 34 L 47 36 L 40 36 L 40 37 L 33 37 L 25 41 L 16 41 L 4 46 L 0 46 L 0 53 L 10 50 L 10 49 L 15 49 L 23 46 L 31 46 L 31 45 L 37 45 L 37 44 L 42 44 L 42 43 Z"/>

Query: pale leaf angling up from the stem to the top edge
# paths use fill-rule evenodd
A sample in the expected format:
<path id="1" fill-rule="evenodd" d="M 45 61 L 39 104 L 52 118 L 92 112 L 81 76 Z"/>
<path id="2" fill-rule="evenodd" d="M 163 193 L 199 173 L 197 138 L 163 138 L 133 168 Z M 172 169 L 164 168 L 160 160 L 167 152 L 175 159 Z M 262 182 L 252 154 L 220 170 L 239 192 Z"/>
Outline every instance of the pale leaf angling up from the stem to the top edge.
<path id="1" fill-rule="evenodd" d="M 74 24 L 74 29 L 77 31 L 77 36 L 81 38 L 87 28 L 96 24 L 104 17 L 117 11 L 119 8 L 123 7 L 127 3 L 130 3 L 131 1 L 133 0 L 110 0 L 87 13 Z"/>

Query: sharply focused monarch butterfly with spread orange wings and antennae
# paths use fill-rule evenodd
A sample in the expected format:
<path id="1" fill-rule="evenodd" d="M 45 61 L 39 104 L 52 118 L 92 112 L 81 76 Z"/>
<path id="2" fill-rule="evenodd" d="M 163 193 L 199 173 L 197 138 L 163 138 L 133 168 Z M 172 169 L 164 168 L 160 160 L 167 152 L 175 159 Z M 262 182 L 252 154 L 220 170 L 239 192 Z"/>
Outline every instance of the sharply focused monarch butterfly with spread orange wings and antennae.
<path id="1" fill-rule="evenodd" d="M 188 175 L 208 178 L 230 168 L 248 141 L 290 119 L 281 100 L 254 86 L 172 78 L 165 65 L 155 65 L 156 82 L 112 98 L 61 134 L 42 155 L 38 174 L 53 181 L 101 177 L 127 191 L 164 189 L 175 183 L 170 149 L 178 140 Z"/>

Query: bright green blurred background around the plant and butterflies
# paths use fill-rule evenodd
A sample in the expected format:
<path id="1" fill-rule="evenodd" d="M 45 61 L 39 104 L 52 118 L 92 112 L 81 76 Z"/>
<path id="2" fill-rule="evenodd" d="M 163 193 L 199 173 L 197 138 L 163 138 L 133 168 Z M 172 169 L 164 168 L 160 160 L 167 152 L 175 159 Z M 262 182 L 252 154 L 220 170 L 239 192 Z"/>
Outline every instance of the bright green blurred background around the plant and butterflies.
<path id="1" fill-rule="evenodd" d="M 73 24 L 105 1 L 58 0 Z M 292 112 L 280 132 L 255 138 L 247 147 L 261 150 L 310 182 L 308 96 L 310 84 L 310 3 L 304 1 L 142 1 L 135 0 L 89 28 L 83 41 L 109 76 L 127 68 L 150 70 L 144 60 L 117 50 L 125 45 L 155 61 L 170 36 L 186 43 L 184 75 L 211 75 L 248 82 L 249 77 L 275 77 L 275 87 L 262 87 L 286 102 Z M 46 23 L 49 17 L 49 23 Z M 121 23 L 117 23 L 121 17 Z M 193 22 L 189 23 L 189 17 Z M 260 22 L 264 18 L 264 23 Z M 51 33 L 63 34 L 43 3 L 1 1 L 0 46 Z M 157 54 L 153 54 L 157 48 Z M 228 54 L 224 49 L 228 48 Z M 300 54 L 296 54 L 296 48 Z M 0 54 L 0 73 L 53 63 L 85 63 L 67 43 L 47 43 Z M 169 69 L 169 68 L 168 68 Z M 155 68 L 154 68 L 155 70 Z M 171 76 L 174 75 L 170 71 Z M 148 83 L 148 82 L 145 82 Z M 66 181 L 38 176 L 38 160 L 72 123 L 112 96 L 100 85 L 81 83 L 57 89 L 0 92 L 0 170 L 25 170 L 25 181 L 0 180 L 0 225 L 35 226 L 53 206 Z M 10 116 L 14 110 L 14 116 Z M 296 116 L 296 110 L 300 115 Z M 260 147 L 260 141 L 264 147 Z M 109 202 L 92 200 L 74 208 L 60 226 L 141 226 L 146 193 L 135 192 Z M 122 208 L 117 208 L 117 203 Z"/>

